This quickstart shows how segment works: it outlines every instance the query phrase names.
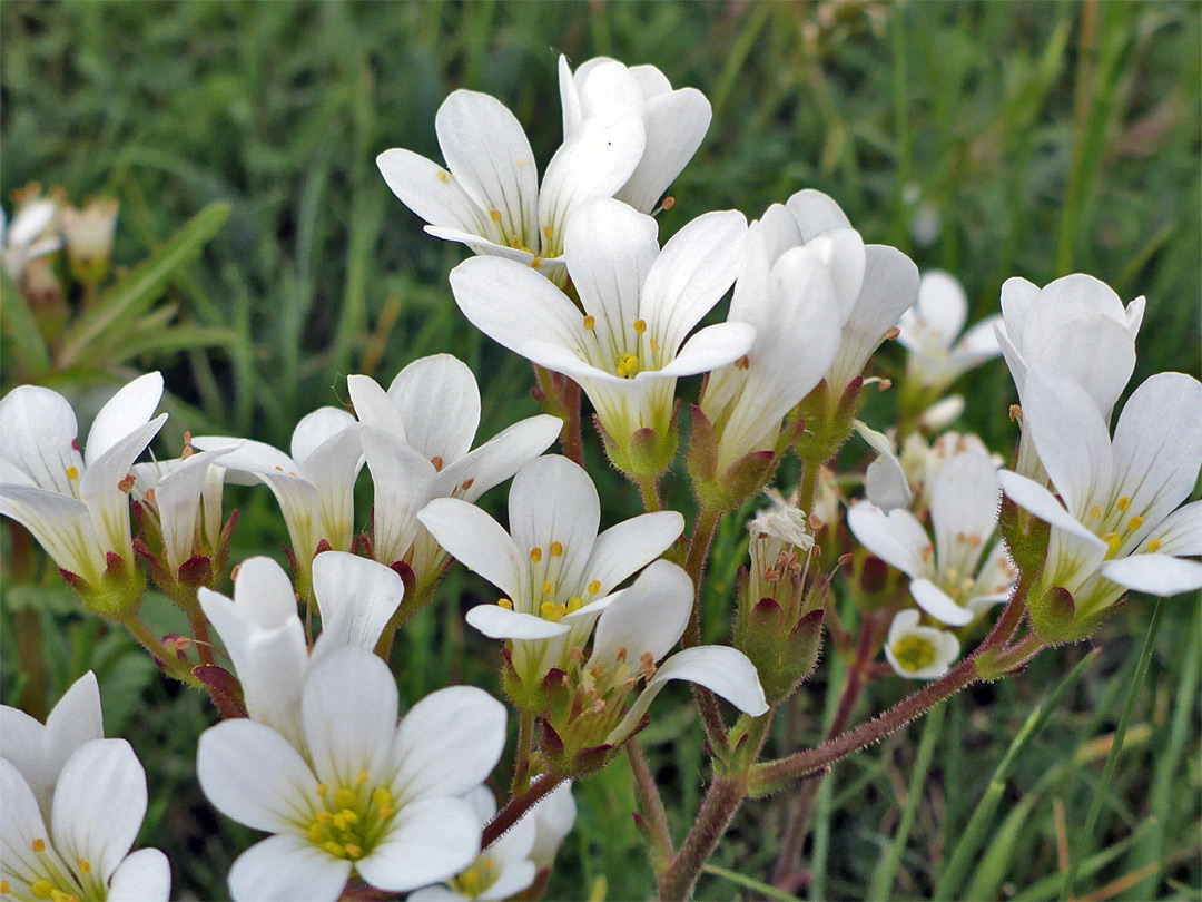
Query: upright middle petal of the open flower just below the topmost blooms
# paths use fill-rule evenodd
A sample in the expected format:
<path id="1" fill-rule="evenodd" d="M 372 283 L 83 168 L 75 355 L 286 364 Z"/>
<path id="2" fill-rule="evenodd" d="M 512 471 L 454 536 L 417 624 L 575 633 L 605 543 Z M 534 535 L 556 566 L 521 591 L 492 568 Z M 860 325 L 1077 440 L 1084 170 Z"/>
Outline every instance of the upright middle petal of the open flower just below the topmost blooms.
<path id="1" fill-rule="evenodd" d="M 596 340 L 613 356 L 638 354 L 639 293 L 660 253 L 659 227 L 620 201 L 594 197 L 567 220 L 564 256 Z"/>

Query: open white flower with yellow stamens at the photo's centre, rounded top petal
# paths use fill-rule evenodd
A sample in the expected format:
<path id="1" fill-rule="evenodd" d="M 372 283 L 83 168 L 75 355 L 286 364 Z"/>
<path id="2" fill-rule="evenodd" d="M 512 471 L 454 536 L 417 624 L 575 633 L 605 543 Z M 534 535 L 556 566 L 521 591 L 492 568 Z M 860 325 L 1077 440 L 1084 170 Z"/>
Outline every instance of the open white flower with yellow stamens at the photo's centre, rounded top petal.
<path id="1" fill-rule="evenodd" d="M 525 464 L 510 488 L 510 532 L 466 502 L 439 498 L 418 520 L 451 554 L 505 593 L 468 611 L 490 639 L 511 640 L 528 687 L 583 647 L 613 588 L 684 532 L 676 511 L 642 514 L 597 535 L 601 503 L 589 475 L 566 457 Z"/>

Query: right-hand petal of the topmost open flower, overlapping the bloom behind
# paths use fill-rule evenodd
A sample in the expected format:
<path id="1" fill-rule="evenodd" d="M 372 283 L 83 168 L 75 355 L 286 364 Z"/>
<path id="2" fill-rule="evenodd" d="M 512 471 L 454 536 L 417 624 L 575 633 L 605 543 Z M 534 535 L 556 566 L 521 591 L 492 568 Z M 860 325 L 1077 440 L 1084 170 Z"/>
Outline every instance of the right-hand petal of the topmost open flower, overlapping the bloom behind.
<path id="1" fill-rule="evenodd" d="M 643 156 L 642 119 L 585 119 L 547 165 L 538 195 L 538 221 L 546 232 L 542 255 L 558 256 L 572 210 L 590 197 L 609 197 L 621 188 Z M 531 250 L 534 244 L 526 244 Z"/>

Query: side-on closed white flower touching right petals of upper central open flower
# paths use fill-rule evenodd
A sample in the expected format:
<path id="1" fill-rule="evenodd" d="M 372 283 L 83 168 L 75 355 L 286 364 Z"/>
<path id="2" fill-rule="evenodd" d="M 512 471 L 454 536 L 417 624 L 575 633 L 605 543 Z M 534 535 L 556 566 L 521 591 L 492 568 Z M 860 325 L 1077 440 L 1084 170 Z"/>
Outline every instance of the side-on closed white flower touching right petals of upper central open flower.
<path id="1" fill-rule="evenodd" d="M 718 471 L 751 451 L 773 450 L 780 423 L 831 368 L 844 318 L 835 273 L 813 245 L 779 247 L 775 204 L 751 224 L 728 322 L 755 327 L 755 343 L 738 361 L 715 369 L 701 409 L 718 433 Z"/>

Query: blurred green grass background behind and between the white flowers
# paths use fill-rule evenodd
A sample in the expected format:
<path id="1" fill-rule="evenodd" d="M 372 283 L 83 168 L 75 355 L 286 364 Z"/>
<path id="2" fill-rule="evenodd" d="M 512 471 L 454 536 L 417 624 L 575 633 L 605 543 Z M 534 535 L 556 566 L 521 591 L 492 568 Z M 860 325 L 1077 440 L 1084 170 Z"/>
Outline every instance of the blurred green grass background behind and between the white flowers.
<path id="1" fill-rule="evenodd" d="M 865 239 L 959 277 L 974 316 L 996 308 L 1013 274 L 1043 284 L 1079 269 L 1124 299 L 1146 293 L 1138 381 L 1202 368 L 1200 37 L 1196 2 L 10 1 L 0 5 L 0 189 L 38 179 L 77 198 L 114 194 L 120 261 L 141 259 L 203 206 L 232 204 L 218 241 L 169 291 L 184 321 L 233 333 L 225 346 L 167 361 L 168 386 L 197 411 L 195 421 L 173 417 L 172 435 L 220 427 L 286 445 L 304 413 L 345 398 L 347 373 L 388 380 L 418 356 L 450 351 L 481 379 L 488 437 L 535 411 L 529 369 L 458 315 L 446 273 L 462 250 L 421 232 L 374 158 L 388 147 L 436 156 L 438 105 L 466 87 L 502 99 L 546 164 L 560 131 L 558 53 L 573 63 L 613 54 L 653 63 L 714 105 L 710 133 L 673 188 L 678 203 L 661 216 L 665 235 L 707 209 L 736 206 L 755 216 L 819 188 Z M 941 222 L 929 244 L 915 241 L 918 204 Z M 886 372 L 899 364 L 891 355 L 895 349 L 882 355 Z M 989 364 L 960 388 L 970 399 L 966 425 L 1008 452 L 1013 391 L 1004 367 Z M 880 396 L 869 413 L 879 408 L 883 419 L 889 403 Z M 595 441 L 589 453 L 606 521 L 635 512 L 636 495 L 601 467 Z M 282 524 L 268 494 L 230 494 L 243 514 L 234 558 L 278 548 Z M 679 480 L 668 495 L 689 508 Z M 502 499 L 504 489 L 487 503 L 495 509 Z M 715 601 L 732 584 L 743 535 L 739 522 L 720 533 Z M 6 700 L 19 689 L 8 627 L 23 601 L 12 594 L 6 588 L 0 637 Z M 130 737 L 149 772 L 143 842 L 172 858 L 177 896 L 222 897 L 228 864 L 252 833 L 219 819 L 195 788 L 204 706 L 155 678 L 124 640 L 72 613 L 69 599 L 52 605 L 54 591 L 44 594 L 54 611 L 47 651 L 55 693 L 99 669 L 109 731 Z M 495 686 L 496 649 L 460 616 L 477 595 L 490 597 L 453 569 L 447 601 L 398 641 L 410 701 L 452 681 Z M 149 607 L 156 623 L 162 607 L 169 629 L 169 609 Z M 1053 802 L 1064 803 L 1069 831 L 1079 829 L 1105 758 L 1089 750 L 1114 729 L 1149 611 L 1136 599 L 1097 634 L 1099 660 L 1013 762 L 999 811 L 1006 826 L 987 838 L 1008 845 L 986 847 L 990 873 L 971 886 L 1004 898 L 1058 892 L 1063 837 Z M 1198 896 L 1198 615 L 1197 599 L 1170 606 L 1087 850 L 1082 897 Z M 721 636 L 726 624 L 712 605 L 709 633 Z M 841 764 L 820 794 L 804 862 L 814 874 L 802 895 L 862 898 L 889 854 L 893 895 L 929 896 L 1011 738 L 1087 651 L 1051 652 L 1020 680 L 954 700 L 916 805 L 900 800 L 920 729 Z M 802 741 L 820 735 L 828 672 L 821 667 L 798 701 Z M 862 714 L 905 689 L 882 681 Z M 707 770 L 688 692 L 666 694 L 644 741 L 682 836 Z M 650 897 L 625 770 L 587 781 L 577 795 L 581 819 L 552 897 L 582 897 L 601 876 L 611 898 Z M 891 850 L 903 811 L 909 841 Z M 762 879 L 784 812 L 784 799 L 748 805 L 714 864 Z M 1111 886 L 1129 874 L 1138 879 Z M 716 872 L 700 895 L 755 897 Z"/>

